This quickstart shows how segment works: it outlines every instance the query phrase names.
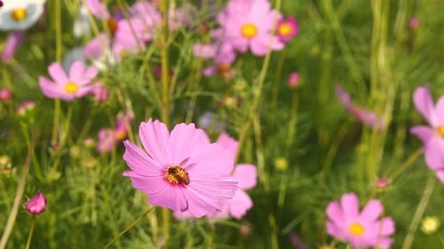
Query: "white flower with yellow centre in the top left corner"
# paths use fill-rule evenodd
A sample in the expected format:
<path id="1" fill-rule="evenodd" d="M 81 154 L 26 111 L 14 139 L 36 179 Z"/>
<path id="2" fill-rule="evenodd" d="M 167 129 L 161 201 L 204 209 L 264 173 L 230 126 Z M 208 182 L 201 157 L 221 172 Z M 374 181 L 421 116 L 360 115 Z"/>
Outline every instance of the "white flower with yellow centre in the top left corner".
<path id="1" fill-rule="evenodd" d="M 46 0 L 4 1 L 0 8 L 0 30 L 26 30 L 42 15 Z"/>

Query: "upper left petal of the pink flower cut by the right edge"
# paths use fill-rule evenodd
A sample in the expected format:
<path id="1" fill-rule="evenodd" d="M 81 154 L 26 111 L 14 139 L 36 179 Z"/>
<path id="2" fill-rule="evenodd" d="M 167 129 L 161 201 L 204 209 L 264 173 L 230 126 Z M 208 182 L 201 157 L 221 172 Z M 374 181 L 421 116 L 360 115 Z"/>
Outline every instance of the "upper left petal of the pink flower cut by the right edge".
<path id="1" fill-rule="evenodd" d="M 432 125 L 436 127 L 438 125 L 438 119 L 434 110 L 432 93 L 428 87 L 419 87 L 413 93 L 413 101 L 415 102 L 416 109 L 420 111 L 422 116 Z"/>

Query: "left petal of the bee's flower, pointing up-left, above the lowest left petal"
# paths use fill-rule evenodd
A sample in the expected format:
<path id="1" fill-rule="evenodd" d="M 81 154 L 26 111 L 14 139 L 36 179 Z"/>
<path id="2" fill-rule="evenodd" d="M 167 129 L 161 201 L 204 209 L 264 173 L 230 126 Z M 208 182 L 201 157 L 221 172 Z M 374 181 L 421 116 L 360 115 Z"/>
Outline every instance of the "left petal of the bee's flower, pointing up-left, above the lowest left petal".
<path id="1" fill-rule="evenodd" d="M 126 140 L 123 142 L 126 147 L 123 159 L 130 169 L 141 176 L 163 176 L 165 169 L 157 165 L 142 149 L 132 142 Z"/>

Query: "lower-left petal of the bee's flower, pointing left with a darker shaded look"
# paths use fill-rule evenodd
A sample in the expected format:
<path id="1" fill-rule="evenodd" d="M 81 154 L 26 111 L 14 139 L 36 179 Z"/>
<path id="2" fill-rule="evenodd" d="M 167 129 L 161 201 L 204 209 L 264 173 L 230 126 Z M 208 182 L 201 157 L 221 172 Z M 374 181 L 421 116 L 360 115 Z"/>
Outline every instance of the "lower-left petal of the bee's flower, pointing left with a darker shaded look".
<path id="1" fill-rule="evenodd" d="M 141 176 L 136 172 L 123 172 L 123 176 L 131 179 L 133 187 L 136 190 L 140 190 L 146 194 L 155 194 L 169 184 L 164 176 Z"/>

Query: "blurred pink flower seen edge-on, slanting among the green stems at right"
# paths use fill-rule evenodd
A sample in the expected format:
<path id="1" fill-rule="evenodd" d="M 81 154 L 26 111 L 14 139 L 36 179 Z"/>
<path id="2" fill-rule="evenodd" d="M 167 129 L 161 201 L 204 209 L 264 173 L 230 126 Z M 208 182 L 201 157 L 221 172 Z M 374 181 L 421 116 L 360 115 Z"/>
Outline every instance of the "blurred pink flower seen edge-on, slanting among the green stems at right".
<path id="1" fill-rule="evenodd" d="M 384 120 L 379 118 L 374 111 L 368 111 L 361 107 L 358 107 L 355 102 L 353 102 L 350 94 L 343 91 L 341 86 L 336 86 L 336 95 L 339 101 L 347 109 L 347 111 L 354 116 L 359 122 L 367 124 L 370 128 L 384 129 Z"/>

